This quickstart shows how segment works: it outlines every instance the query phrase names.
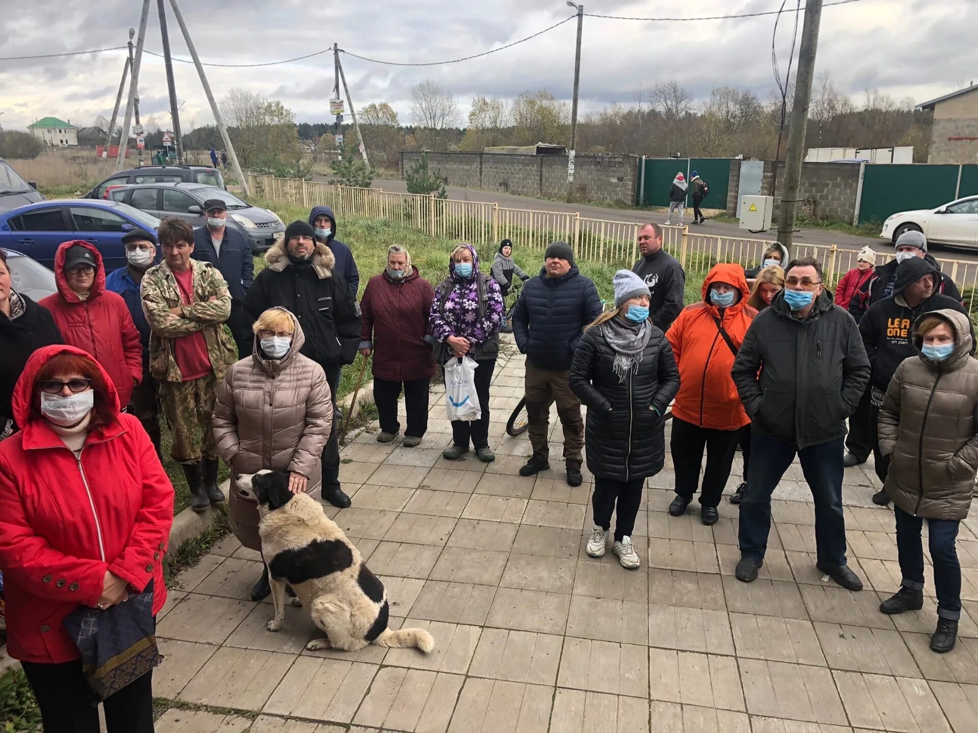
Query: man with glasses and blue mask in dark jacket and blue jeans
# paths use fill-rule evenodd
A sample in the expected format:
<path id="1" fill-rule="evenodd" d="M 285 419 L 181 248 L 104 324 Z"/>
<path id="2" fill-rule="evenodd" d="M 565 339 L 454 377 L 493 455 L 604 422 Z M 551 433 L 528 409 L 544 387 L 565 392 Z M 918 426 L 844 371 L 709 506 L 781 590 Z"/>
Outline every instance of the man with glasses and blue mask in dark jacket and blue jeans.
<path id="1" fill-rule="evenodd" d="M 815 500 L 817 567 L 862 590 L 846 565 L 842 441 L 869 380 L 866 348 L 856 321 L 828 297 L 818 260 L 788 262 L 784 285 L 747 330 L 731 371 L 751 419 L 735 574 L 750 582 L 764 565 L 771 495 L 797 455 Z"/>

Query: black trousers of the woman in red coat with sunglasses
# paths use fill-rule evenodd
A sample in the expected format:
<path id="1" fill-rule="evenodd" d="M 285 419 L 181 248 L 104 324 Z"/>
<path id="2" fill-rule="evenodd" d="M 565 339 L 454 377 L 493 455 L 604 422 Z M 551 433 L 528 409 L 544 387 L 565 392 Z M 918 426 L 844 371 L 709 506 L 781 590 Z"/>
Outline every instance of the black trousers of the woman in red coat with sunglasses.
<path id="1" fill-rule="evenodd" d="M 99 733 L 99 709 L 81 672 L 81 660 L 64 664 L 22 662 L 37 698 L 44 730 Z M 153 733 L 153 670 L 103 702 L 109 733 Z"/>

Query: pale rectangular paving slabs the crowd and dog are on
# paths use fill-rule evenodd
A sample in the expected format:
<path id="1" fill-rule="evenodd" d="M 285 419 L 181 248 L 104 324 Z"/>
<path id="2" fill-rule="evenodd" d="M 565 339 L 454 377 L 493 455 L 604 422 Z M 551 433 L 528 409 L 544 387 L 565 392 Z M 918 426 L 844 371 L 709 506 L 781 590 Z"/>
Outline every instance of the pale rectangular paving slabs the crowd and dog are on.
<path id="1" fill-rule="evenodd" d="M 668 515 L 668 457 L 636 526 L 643 566 L 626 571 L 610 549 L 600 560 L 584 552 L 593 480 L 585 472 L 578 488 L 564 482 L 556 413 L 555 470 L 518 476 L 529 442 L 505 426 L 523 373 L 518 355 L 497 365 L 493 464 L 471 453 L 441 458 L 450 442 L 443 395 L 432 399 L 421 446 L 401 447 L 400 437 L 380 445 L 375 426 L 342 453 L 353 507 L 329 513 L 386 584 L 392 625 L 434 635 L 429 656 L 305 652 L 316 629 L 292 607 L 284 629 L 267 632 L 270 603 L 247 600 L 259 557 L 230 536 L 170 592 L 154 690 L 228 710 L 173 708 L 158 733 L 978 730 L 978 524 L 961 527 L 964 612 L 945 656 L 928 646 L 929 572 L 923 611 L 877 610 L 900 572 L 892 514 L 869 500 L 878 481 L 868 466 L 847 469 L 844 490 L 860 593 L 815 570 L 797 464 L 778 487 L 755 582 L 733 577 L 736 507 L 725 500 L 714 527 L 700 524 L 695 503 L 689 515 Z"/>

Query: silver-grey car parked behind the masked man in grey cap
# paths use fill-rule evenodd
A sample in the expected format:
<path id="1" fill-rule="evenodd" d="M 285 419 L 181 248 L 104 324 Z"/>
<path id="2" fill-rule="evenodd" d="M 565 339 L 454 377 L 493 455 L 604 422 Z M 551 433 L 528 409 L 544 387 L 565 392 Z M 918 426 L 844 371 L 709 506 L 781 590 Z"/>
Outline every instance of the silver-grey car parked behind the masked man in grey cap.
<path id="1" fill-rule="evenodd" d="M 250 206 L 234 194 L 202 183 L 144 183 L 121 186 L 109 192 L 111 201 L 122 202 L 154 216 L 176 216 L 192 226 L 203 226 L 207 217 L 203 203 L 220 199 L 228 207 L 231 225 L 238 225 L 247 235 L 251 252 L 265 252 L 286 232 L 282 219 L 267 208 Z"/>

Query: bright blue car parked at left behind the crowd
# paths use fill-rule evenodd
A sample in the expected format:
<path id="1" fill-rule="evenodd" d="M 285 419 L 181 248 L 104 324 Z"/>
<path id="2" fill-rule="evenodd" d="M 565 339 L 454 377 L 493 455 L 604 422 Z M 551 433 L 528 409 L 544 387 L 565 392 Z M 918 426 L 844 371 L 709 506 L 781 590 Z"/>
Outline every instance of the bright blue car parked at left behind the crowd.
<path id="1" fill-rule="evenodd" d="M 0 247 L 23 252 L 53 268 L 58 245 L 81 239 L 102 252 L 106 272 L 111 272 L 126 263 L 122 246 L 126 232 L 156 232 L 158 226 L 156 216 L 114 201 L 59 199 L 0 213 Z"/>

